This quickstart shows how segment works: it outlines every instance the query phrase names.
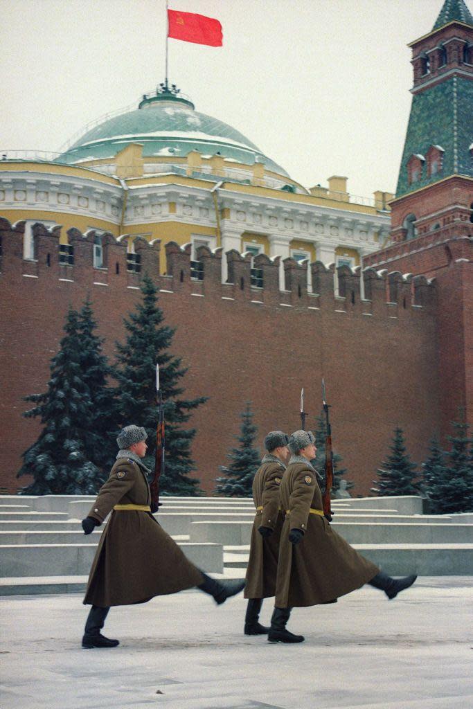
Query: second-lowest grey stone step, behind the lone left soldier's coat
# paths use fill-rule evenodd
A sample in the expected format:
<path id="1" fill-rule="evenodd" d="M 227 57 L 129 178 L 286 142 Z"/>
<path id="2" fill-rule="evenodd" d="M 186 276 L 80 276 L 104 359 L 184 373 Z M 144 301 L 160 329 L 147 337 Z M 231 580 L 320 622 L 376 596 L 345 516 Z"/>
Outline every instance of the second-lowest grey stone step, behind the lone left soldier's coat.
<path id="1" fill-rule="evenodd" d="M 203 571 L 223 571 L 223 547 L 219 544 L 181 542 L 191 562 Z M 88 574 L 96 544 L 1 545 L 2 576 L 80 576 Z"/>

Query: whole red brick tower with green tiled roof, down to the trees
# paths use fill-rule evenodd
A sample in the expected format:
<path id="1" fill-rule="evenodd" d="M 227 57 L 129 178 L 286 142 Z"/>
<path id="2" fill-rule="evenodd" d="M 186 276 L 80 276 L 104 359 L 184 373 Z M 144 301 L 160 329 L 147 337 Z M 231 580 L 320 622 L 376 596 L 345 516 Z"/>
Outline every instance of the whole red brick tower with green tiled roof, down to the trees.
<path id="1" fill-rule="evenodd" d="M 445 0 L 411 45 L 413 94 L 388 248 L 366 267 L 435 279 L 441 433 L 473 420 L 473 17 Z M 421 411 L 419 412 L 421 415 Z"/>

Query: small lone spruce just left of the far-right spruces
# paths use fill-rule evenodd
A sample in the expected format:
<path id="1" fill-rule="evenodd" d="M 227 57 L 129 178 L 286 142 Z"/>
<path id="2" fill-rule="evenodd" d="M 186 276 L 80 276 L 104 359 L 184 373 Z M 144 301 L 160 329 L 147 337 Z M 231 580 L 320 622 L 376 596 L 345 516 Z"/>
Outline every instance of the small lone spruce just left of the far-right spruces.
<path id="1" fill-rule="evenodd" d="M 374 480 L 377 487 L 371 489 L 379 497 L 394 495 L 418 495 L 419 484 L 416 482 L 416 464 L 411 462 L 404 445 L 404 432 L 397 426 L 394 429 L 392 445 L 382 467 L 377 470 L 379 480 Z"/>

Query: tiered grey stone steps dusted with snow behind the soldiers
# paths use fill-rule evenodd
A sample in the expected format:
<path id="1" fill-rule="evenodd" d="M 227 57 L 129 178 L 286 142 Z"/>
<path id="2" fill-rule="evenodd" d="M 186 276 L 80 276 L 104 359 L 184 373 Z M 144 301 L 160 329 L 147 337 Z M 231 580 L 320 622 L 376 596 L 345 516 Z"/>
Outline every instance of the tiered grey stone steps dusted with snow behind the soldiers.
<path id="1" fill-rule="evenodd" d="M 82 533 L 87 496 L 0 496 L 0 595 L 83 591 L 101 530 Z M 248 498 L 162 498 L 162 527 L 194 564 L 243 578 Z M 333 528 L 393 576 L 473 575 L 473 513 L 423 515 L 417 497 L 333 501 Z"/>

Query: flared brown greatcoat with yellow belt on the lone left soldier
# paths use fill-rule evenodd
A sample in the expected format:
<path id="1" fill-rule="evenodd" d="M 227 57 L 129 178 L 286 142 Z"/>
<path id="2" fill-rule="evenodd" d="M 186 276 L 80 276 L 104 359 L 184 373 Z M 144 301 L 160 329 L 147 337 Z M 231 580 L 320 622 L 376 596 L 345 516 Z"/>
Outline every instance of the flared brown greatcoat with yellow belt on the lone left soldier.
<path id="1" fill-rule="evenodd" d="M 89 516 L 103 522 L 116 504 L 150 505 L 145 473 L 121 458 L 101 487 Z M 128 605 L 203 583 L 199 569 L 151 513 L 113 510 L 91 566 L 84 603 Z"/>

